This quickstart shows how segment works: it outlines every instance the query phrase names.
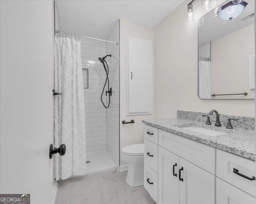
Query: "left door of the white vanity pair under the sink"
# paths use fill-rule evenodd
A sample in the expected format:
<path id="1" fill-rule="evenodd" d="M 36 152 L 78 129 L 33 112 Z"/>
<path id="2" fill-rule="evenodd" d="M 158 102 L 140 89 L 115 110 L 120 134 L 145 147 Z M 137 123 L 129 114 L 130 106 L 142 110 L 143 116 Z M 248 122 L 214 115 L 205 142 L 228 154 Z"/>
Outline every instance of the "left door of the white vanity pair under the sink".
<path id="1" fill-rule="evenodd" d="M 158 204 L 179 203 L 179 157 L 159 147 Z"/>

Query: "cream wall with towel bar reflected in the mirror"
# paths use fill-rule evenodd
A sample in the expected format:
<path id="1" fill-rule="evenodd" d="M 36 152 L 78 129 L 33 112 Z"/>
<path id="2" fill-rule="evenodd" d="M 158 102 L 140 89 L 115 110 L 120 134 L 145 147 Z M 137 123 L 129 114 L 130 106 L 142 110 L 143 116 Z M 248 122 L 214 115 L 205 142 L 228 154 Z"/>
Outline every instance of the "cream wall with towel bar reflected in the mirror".
<path id="1" fill-rule="evenodd" d="M 213 94 L 247 92 L 247 96 L 230 97 L 255 98 L 254 89 L 249 87 L 249 56 L 255 53 L 254 38 L 254 24 L 252 24 L 212 41 Z M 217 97 L 227 98 L 227 96 L 215 98 Z"/>

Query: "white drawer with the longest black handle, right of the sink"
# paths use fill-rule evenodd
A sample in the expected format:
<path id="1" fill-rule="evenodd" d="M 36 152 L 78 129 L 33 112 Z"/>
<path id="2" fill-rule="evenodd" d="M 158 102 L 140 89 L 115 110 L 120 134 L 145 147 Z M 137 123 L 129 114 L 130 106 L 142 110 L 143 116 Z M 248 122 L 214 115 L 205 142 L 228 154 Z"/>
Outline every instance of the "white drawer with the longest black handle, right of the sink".
<path id="1" fill-rule="evenodd" d="M 216 175 L 219 178 L 227 181 L 228 183 L 240 188 L 241 190 L 256 196 L 256 180 L 249 180 L 255 176 L 256 164 L 254 161 L 217 150 L 217 167 Z M 243 174 L 248 178 L 242 177 L 242 175 L 235 174 L 237 172 Z"/>

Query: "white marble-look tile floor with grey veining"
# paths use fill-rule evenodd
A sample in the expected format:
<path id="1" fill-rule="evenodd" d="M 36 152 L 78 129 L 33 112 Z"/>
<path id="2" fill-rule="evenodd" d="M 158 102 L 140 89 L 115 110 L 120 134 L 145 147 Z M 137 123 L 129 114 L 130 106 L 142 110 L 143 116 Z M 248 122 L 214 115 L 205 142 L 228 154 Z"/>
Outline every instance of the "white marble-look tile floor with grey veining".
<path id="1" fill-rule="evenodd" d="M 59 181 L 55 204 L 155 204 L 144 186 L 128 186 L 126 175 L 110 170 Z"/>

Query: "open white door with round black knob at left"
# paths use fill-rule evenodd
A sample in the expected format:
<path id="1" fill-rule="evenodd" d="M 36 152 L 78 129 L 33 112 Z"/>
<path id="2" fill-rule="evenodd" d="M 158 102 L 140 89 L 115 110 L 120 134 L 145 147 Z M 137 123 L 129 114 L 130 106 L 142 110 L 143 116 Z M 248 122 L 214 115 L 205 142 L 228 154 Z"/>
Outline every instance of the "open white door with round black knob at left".
<path id="1" fill-rule="evenodd" d="M 0 193 L 53 202 L 53 2 L 0 1 Z"/>

